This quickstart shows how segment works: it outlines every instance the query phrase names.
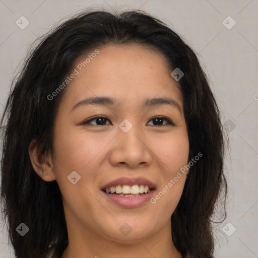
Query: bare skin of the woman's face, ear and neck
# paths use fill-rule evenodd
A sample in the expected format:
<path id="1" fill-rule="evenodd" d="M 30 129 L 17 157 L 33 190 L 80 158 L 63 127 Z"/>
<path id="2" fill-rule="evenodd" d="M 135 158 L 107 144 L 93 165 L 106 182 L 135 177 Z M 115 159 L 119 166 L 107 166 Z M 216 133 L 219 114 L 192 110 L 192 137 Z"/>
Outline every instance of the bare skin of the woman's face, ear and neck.
<path id="1" fill-rule="evenodd" d="M 105 45 L 66 88 L 54 125 L 53 155 L 40 155 L 35 141 L 29 154 L 35 172 L 56 180 L 62 193 L 69 246 L 61 258 L 182 257 L 171 239 L 170 217 L 183 190 L 186 173 L 155 204 L 122 208 L 102 196 L 101 186 L 122 177 L 148 178 L 160 192 L 187 164 L 189 142 L 183 98 L 172 69 L 157 50 L 140 45 Z M 86 56 L 87 57 L 87 56 Z M 76 60 L 84 61 L 85 56 Z M 75 67 L 76 68 L 76 65 Z M 73 70 L 74 70 L 73 68 Z M 109 96 L 117 106 L 72 107 L 87 97 Z M 145 98 L 169 97 L 180 106 L 141 107 Z M 84 121 L 99 115 L 107 118 Z M 165 119 L 155 124 L 153 118 Z M 118 125 L 133 127 L 124 133 Z M 81 179 L 72 184 L 68 176 Z M 123 235 L 119 228 L 132 228 Z"/>

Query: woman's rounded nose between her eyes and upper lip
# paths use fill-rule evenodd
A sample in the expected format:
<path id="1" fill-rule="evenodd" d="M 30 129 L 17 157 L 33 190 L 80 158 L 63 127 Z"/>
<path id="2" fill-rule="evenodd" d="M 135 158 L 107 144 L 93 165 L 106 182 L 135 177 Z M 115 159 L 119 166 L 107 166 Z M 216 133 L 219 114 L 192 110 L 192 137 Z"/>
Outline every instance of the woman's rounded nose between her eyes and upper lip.
<path id="1" fill-rule="evenodd" d="M 152 151 L 148 146 L 147 136 L 141 134 L 133 126 L 130 131 L 124 133 L 118 128 L 109 161 L 113 166 L 127 166 L 136 168 L 147 166 L 152 162 Z"/>

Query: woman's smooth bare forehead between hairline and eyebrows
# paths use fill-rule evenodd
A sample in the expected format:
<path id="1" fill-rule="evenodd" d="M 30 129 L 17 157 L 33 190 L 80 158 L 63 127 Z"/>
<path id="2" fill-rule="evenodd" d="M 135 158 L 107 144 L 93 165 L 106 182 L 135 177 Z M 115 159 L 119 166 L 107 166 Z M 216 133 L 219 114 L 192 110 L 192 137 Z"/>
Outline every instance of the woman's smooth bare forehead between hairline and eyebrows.
<path id="1" fill-rule="evenodd" d="M 92 54 L 96 50 L 98 54 Z M 72 71 L 75 69 L 78 74 L 69 83 L 66 94 L 71 103 L 104 95 L 121 103 L 135 103 L 146 96 L 171 96 L 182 101 L 178 83 L 170 76 L 172 68 L 154 47 L 105 45 L 77 58 Z"/>

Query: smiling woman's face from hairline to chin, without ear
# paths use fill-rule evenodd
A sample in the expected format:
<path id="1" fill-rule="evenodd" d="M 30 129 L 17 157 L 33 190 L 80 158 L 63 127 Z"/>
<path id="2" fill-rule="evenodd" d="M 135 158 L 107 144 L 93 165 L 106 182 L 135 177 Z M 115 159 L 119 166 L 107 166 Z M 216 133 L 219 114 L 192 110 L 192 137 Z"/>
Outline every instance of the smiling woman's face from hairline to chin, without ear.
<path id="1" fill-rule="evenodd" d="M 170 234 L 186 174 L 174 177 L 187 164 L 189 152 L 182 94 L 160 52 L 139 45 L 98 50 L 85 67 L 79 66 L 81 71 L 78 65 L 87 56 L 76 60 L 73 72 L 78 74 L 67 86 L 55 120 L 52 171 L 69 234 L 119 243 Z M 113 104 L 84 101 L 92 97 L 112 98 Z M 143 105 L 152 98 L 171 102 Z M 103 191 L 116 185 L 128 190 L 123 187 L 127 184 L 151 185 L 152 190 L 138 197 Z"/>

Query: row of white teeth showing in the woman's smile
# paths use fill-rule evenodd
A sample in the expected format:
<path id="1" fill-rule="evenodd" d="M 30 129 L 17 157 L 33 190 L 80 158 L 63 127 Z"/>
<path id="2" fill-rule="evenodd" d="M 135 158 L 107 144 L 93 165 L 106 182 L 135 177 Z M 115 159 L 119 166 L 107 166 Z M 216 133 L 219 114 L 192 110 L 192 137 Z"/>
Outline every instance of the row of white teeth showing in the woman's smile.
<path id="1" fill-rule="evenodd" d="M 107 187 L 105 189 L 106 192 L 111 192 L 114 195 L 117 194 L 119 196 L 125 196 L 130 197 L 131 195 L 138 196 L 139 193 L 149 193 L 151 191 L 151 188 L 148 185 L 138 185 L 135 184 L 133 186 L 130 185 L 116 185 Z"/>

